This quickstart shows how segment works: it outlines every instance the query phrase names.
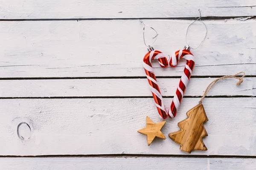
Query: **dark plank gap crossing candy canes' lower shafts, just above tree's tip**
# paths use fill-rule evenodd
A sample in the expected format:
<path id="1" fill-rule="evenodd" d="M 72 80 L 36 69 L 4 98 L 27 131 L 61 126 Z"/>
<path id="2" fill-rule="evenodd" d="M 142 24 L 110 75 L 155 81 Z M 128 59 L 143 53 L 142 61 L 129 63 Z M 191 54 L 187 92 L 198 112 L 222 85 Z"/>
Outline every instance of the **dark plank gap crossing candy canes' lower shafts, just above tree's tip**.
<path id="1" fill-rule="evenodd" d="M 172 98 L 173 96 L 163 96 L 163 98 Z M 183 98 L 201 98 L 202 96 L 183 96 Z M 206 96 L 205 98 L 250 98 L 256 96 Z M 63 96 L 63 97 L 0 97 L 0 99 L 129 99 L 129 98 L 153 98 L 152 96 Z"/>

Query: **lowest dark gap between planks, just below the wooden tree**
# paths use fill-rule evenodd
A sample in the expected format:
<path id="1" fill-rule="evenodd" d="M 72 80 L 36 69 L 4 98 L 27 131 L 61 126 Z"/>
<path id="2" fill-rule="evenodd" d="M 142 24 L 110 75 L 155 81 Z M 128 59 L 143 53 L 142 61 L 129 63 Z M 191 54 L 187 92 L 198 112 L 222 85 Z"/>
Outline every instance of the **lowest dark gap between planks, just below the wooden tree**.
<path id="1" fill-rule="evenodd" d="M 40 156 L 0 156 L 0 158 L 6 157 L 26 157 L 26 158 L 45 158 L 45 157 L 125 157 L 125 158 L 137 158 L 137 157 L 173 157 L 173 158 L 243 158 L 243 159 L 256 159 L 256 156 L 235 156 L 235 155 L 154 155 L 154 154 L 102 154 L 102 155 L 40 155 Z"/>

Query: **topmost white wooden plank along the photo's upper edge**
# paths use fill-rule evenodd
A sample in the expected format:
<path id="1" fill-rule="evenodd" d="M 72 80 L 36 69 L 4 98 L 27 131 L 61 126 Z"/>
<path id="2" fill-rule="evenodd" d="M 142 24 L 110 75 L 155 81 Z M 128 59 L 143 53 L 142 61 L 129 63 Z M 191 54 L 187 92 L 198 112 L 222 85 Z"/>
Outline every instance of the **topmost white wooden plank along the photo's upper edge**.
<path id="1" fill-rule="evenodd" d="M 254 0 L 9 0 L 1 3 L 0 19 L 237 17 L 256 15 Z"/>

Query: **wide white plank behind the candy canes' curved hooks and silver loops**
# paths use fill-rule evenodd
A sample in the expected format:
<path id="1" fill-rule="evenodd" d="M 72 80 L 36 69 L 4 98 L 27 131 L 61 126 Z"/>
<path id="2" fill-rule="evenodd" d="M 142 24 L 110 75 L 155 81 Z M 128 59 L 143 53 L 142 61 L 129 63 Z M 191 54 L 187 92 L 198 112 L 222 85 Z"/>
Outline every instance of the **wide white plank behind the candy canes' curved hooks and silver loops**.
<path id="1" fill-rule="evenodd" d="M 155 49 L 173 55 L 184 47 L 190 20 L 144 22 L 159 33 Z M 207 38 L 192 51 L 196 58 L 192 75 L 233 75 L 238 71 L 256 75 L 256 20 L 205 23 Z M 142 59 L 147 51 L 142 28 L 138 20 L 1 22 L 0 77 L 145 76 Z M 190 45 L 200 43 L 204 31 L 202 24 L 192 26 Z M 148 42 L 152 34 L 146 30 Z M 180 76 L 184 65 L 183 60 L 177 68 L 163 69 L 158 63 L 153 67 L 156 76 Z"/>

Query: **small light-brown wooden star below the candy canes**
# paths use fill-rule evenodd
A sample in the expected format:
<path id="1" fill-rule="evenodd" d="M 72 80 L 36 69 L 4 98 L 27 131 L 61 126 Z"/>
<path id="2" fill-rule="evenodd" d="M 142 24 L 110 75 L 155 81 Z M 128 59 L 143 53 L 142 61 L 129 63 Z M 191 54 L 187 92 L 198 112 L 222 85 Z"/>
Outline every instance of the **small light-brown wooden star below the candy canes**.
<path id="1" fill-rule="evenodd" d="M 166 123 L 166 121 L 154 123 L 147 116 L 146 127 L 138 130 L 138 132 L 143 135 L 147 135 L 148 146 L 151 144 L 151 142 L 154 140 L 155 137 L 160 138 L 160 139 L 166 139 L 166 137 L 160 131 L 165 123 Z"/>

